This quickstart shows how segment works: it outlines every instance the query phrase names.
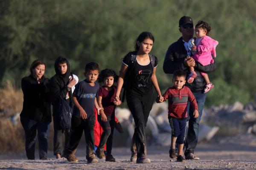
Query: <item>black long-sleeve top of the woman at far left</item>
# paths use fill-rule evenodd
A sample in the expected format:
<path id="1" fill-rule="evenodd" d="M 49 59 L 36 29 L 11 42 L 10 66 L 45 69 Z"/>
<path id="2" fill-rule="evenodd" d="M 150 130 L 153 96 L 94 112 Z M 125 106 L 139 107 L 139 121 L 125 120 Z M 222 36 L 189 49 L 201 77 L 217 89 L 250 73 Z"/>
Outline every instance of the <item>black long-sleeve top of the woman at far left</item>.
<path id="1" fill-rule="evenodd" d="M 23 91 L 23 109 L 20 116 L 39 122 L 51 122 L 51 103 L 48 79 L 42 78 L 40 83 L 29 75 L 21 79 Z"/>

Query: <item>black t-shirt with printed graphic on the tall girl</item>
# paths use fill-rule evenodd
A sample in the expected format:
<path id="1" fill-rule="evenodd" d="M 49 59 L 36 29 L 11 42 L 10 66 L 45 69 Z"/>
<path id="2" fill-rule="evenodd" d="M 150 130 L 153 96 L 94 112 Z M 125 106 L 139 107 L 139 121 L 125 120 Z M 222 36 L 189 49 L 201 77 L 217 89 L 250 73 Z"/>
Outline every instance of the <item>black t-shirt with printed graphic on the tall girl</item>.
<path id="1" fill-rule="evenodd" d="M 128 54 L 122 62 L 129 67 L 130 60 L 131 57 Z M 155 67 L 157 67 L 157 57 L 155 57 L 154 68 Z M 138 95 L 150 93 L 153 87 L 153 83 L 151 81 L 152 74 L 153 68 L 150 61 L 146 65 L 140 65 L 136 59 L 134 68 L 128 78 L 128 88 L 126 90 L 129 93 Z"/>

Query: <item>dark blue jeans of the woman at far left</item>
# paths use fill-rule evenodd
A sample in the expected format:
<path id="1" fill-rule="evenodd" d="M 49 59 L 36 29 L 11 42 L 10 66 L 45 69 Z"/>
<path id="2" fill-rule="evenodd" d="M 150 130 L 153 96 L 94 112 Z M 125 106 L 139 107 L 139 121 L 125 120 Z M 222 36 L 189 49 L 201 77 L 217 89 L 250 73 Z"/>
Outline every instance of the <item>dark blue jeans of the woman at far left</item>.
<path id="1" fill-rule="evenodd" d="M 39 158 L 47 159 L 48 134 L 51 122 L 38 122 L 36 120 L 20 117 L 21 125 L 25 131 L 25 149 L 28 159 L 35 159 L 35 140 L 38 132 Z"/>

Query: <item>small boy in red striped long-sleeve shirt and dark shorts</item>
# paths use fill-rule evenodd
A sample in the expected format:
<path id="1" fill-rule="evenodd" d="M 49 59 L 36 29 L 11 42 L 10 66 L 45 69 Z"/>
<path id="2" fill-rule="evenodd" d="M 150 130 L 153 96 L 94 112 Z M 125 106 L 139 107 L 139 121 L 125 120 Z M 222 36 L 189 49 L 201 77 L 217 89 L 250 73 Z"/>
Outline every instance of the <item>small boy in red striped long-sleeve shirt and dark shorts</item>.
<path id="1" fill-rule="evenodd" d="M 168 88 L 163 94 L 164 101 L 168 99 L 168 119 L 172 128 L 172 144 L 169 150 L 171 158 L 177 158 L 177 161 L 185 161 L 183 158 L 183 145 L 186 131 L 187 104 L 194 108 L 194 117 L 197 118 L 198 105 L 195 96 L 185 85 L 186 73 L 184 71 L 175 71 L 172 78 L 173 86 Z M 175 153 L 175 143 L 178 145 L 178 156 Z"/>

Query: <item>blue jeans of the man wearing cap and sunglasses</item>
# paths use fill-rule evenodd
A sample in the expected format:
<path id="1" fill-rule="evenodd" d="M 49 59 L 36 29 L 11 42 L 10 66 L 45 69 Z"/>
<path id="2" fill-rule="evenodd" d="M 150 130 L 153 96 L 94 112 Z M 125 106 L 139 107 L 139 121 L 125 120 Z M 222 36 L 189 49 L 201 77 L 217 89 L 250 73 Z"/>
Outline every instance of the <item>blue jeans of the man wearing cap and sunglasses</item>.
<path id="1" fill-rule="evenodd" d="M 187 111 L 189 113 L 188 114 L 189 116 L 188 116 L 187 121 L 189 121 L 189 128 L 188 128 L 188 133 L 187 133 L 186 140 L 185 140 L 185 147 L 186 147 L 186 151 L 184 153 L 185 156 L 188 153 L 194 153 L 195 147 L 198 143 L 198 126 L 199 126 L 199 122 L 201 120 L 201 116 L 202 116 L 203 108 L 204 108 L 204 102 L 206 99 L 206 94 L 204 94 L 204 93 L 196 92 L 193 94 L 194 94 L 195 99 L 198 104 L 199 116 L 197 118 L 194 118 L 194 116 L 193 116 L 194 109 L 192 108 L 190 103 L 188 103 Z"/>

